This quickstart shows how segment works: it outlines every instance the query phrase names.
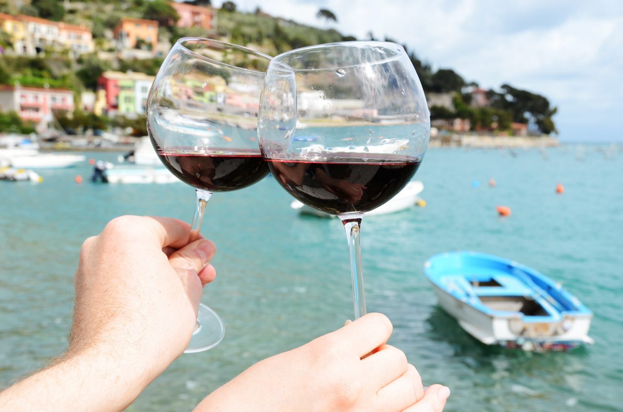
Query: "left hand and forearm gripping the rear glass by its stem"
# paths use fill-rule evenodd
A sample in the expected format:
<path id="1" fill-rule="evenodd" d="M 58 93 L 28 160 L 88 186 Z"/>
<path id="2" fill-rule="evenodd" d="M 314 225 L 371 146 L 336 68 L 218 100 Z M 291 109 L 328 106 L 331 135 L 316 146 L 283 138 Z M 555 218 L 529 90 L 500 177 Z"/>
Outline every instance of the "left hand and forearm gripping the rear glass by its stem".
<path id="1" fill-rule="evenodd" d="M 0 410 L 125 410 L 186 348 L 216 276 L 214 244 L 189 234 L 176 219 L 124 216 L 88 238 L 67 353 L 2 391 Z"/>

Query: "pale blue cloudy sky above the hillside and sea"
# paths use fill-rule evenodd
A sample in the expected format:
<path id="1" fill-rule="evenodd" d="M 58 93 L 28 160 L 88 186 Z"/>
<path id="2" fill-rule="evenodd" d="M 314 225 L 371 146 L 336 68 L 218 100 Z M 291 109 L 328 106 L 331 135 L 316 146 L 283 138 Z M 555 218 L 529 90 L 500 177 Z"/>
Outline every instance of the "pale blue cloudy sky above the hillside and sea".
<path id="1" fill-rule="evenodd" d="M 386 37 L 482 88 L 545 96 L 561 141 L 623 142 L 623 1 L 234 0 L 359 40 Z M 212 0 L 220 7 L 222 0 Z M 337 23 L 316 17 L 319 9 Z"/>

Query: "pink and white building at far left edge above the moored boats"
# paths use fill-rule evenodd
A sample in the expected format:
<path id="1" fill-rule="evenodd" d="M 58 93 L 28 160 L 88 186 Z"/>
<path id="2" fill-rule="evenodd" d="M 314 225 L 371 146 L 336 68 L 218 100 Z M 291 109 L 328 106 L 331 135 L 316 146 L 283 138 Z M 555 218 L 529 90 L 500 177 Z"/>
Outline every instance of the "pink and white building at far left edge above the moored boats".
<path id="1" fill-rule="evenodd" d="M 15 111 L 24 121 L 39 123 L 52 119 L 55 110 L 74 111 L 74 92 L 0 85 L 0 111 Z"/>

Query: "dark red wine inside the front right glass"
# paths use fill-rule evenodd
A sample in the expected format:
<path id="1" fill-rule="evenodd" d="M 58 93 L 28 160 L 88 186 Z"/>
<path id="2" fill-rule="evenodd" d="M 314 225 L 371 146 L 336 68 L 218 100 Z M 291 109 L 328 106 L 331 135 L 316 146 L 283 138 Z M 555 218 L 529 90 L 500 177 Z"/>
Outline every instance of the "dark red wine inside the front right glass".
<path id="1" fill-rule="evenodd" d="M 290 194 L 326 213 L 368 212 L 394 197 L 416 173 L 420 159 L 336 154 L 323 162 L 267 159 L 270 172 Z"/>

